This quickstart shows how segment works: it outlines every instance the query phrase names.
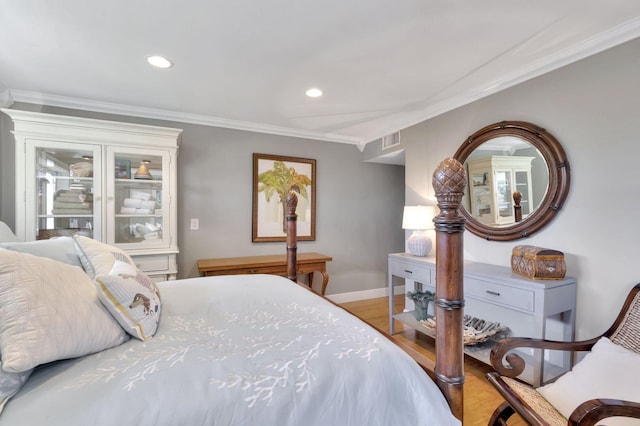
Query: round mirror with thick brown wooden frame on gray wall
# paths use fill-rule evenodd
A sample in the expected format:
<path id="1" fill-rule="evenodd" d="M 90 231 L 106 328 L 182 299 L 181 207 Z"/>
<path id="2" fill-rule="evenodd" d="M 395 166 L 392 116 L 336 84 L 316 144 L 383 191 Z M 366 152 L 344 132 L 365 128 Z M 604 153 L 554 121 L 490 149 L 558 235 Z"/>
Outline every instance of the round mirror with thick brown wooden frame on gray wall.
<path id="1" fill-rule="evenodd" d="M 569 192 L 569 163 L 545 129 L 523 121 L 484 127 L 455 153 L 469 179 L 466 228 L 487 240 L 533 235 L 560 210 Z"/>

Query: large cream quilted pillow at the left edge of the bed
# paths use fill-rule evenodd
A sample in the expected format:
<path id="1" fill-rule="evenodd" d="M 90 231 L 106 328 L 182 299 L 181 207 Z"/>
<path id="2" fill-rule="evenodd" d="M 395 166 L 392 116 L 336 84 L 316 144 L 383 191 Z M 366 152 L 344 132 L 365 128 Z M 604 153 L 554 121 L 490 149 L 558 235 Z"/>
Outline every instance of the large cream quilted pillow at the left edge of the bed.
<path id="1" fill-rule="evenodd" d="M 128 336 L 81 268 L 0 249 L 0 353 L 7 372 L 117 346 Z"/>

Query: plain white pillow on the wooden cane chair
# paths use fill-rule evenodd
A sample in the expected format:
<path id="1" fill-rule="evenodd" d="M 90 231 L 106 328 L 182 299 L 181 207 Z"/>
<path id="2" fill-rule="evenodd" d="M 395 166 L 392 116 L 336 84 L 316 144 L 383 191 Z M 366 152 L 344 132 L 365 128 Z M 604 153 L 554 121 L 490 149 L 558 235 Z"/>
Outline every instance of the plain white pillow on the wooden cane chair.
<path id="1" fill-rule="evenodd" d="M 537 391 L 567 418 L 578 405 L 594 398 L 640 402 L 640 354 L 603 337 L 570 372 Z M 604 423 L 638 426 L 640 420 L 612 417 Z"/>

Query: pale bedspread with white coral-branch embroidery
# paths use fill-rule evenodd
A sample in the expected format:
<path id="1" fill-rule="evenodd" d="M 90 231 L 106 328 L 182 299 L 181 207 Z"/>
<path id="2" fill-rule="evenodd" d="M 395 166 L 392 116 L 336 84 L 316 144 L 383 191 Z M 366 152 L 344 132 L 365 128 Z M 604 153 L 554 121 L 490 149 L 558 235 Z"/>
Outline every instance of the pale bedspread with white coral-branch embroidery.
<path id="1" fill-rule="evenodd" d="M 160 283 L 156 335 L 37 368 L 0 425 L 454 425 L 371 327 L 273 275 Z"/>

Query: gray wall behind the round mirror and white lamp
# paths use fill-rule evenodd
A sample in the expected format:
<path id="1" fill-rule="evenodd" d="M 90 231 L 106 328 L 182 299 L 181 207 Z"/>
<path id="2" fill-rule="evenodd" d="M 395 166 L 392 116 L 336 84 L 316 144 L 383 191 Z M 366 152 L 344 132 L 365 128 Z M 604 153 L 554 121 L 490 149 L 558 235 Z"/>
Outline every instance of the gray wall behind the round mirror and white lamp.
<path id="1" fill-rule="evenodd" d="M 509 266 L 518 244 L 565 253 L 578 280 L 577 335 L 602 333 L 640 281 L 640 39 L 473 102 L 401 132 L 406 202 L 434 200 L 436 165 L 476 130 L 502 120 L 546 128 L 564 146 L 571 189 L 557 217 L 526 240 L 467 232 L 467 260 Z"/>

